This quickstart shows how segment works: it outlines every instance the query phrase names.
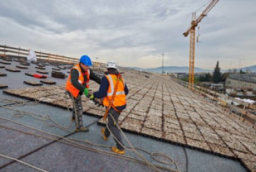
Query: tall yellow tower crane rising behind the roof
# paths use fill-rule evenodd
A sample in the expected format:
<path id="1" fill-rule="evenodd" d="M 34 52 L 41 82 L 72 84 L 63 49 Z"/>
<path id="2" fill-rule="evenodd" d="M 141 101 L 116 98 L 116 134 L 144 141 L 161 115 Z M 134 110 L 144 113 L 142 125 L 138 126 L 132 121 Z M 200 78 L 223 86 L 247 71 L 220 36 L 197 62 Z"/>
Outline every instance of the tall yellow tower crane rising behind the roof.
<path id="1" fill-rule="evenodd" d="M 204 11 L 200 14 L 198 18 L 196 18 L 196 13 L 192 14 L 191 27 L 183 33 L 185 37 L 190 33 L 190 47 L 189 47 L 189 88 L 193 89 L 194 85 L 194 68 L 195 68 L 195 35 L 196 35 L 196 26 L 201 20 L 212 10 L 212 8 L 219 2 L 220 0 L 212 0 L 211 3 L 205 8 Z"/>

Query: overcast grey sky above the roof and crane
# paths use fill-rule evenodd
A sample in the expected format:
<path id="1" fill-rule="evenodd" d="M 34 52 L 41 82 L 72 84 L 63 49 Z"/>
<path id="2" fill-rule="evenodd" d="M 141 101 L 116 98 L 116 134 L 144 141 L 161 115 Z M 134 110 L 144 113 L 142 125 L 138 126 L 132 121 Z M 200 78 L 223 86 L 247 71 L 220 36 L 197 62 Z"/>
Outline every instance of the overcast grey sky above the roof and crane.
<path id="1" fill-rule="evenodd" d="M 189 65 L 191 15 L 209 0 L 0 0 L 0 44 L 120 66 Z M 256 1 L 220 0 L 196 28 L 195 66 L 256 65 Z"/>

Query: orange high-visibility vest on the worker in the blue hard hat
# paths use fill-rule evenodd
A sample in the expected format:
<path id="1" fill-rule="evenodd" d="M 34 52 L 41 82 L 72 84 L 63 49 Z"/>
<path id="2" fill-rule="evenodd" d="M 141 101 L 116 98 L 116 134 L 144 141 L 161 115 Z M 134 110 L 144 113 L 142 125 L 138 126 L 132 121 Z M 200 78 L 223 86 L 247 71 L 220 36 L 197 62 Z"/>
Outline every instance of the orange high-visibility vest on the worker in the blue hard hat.
<path id="1" fill-rule="evenodd" d="M 81 85 L 84 85 L 84 75 L 87 75 L 86 88 L 88 89 L 89 88 L 89 82 L 90 82 L 90 69 L 88 69 L 85 73 L 82 73 L 82 70 L 81 70 L 79 64 L 76 64 L 72 69 L 76 69 L 78 71 L 78 73 L 79 73 L 78 82 L 81 83 Z M 72 96 L 74 96 L 74 97 L 77 97 L 79 92 L 80 92 L 79 89 L 77 89 L 76 87 L 74 87 L 74 85 L 72 85 L 70 75 L 68 76 L 68 80 L 67 80 L 67 83 L 66 83 L 66 90 L 68 90 L 72 94 Z"/>

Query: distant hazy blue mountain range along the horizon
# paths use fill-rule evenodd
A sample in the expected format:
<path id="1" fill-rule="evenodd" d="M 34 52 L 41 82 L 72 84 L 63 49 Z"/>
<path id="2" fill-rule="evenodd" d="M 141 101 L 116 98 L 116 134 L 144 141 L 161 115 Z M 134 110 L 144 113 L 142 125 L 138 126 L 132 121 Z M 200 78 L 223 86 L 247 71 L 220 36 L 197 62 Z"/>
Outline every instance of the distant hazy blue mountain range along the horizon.
<path id="1" fill-rule="evenodd" d="M 162 68 L 162 67 L 157 67 L 157 68 L 130 67 L 130 68 L 137 70 L 137 71 L 148 71 L 148 72 L 152 72 L 152 73 L 162 73 L 162 71 L 168 72 L 168 73 L 188 73 L 188 71 L 189 71 L 189 67 L 187 67 L 187 66 L 164 66 L 164 68 Z M 244 67 L 241 69 L 243 71 L 256 72 L 256 65 Z M 221 73 L 230 71 L 230 70 L 234 71 L 234 69 L 221 69 Z M 236 70 L 239 71 L 240 69 L 236 69 Z M 195 67 L 195 73 L 197 73 L 197 72 L 211 73 L 213 71 L 214 71 L 214 69 L 202 69 L 202 68 Z"/>

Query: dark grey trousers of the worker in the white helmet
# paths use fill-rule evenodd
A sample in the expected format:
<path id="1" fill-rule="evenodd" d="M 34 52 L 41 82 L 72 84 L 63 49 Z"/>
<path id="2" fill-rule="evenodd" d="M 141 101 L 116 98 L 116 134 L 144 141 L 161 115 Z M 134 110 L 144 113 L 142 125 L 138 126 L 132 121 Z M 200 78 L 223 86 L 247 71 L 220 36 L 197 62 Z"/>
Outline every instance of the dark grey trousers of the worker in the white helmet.
<path id="1" fill-rule="evenodd" d="M 111 115 L 113 116 L 113 118 L 115 119 L 116 122 L 114 122 L 113 118 L 111 117 Z M 119 117 L 120 113 L 118 113 L 117 111 L 113 110 L 112 108 L 109 110 L 108 112 L 108 127 L 110 129 L 110 131 L 113 133 L 113 135 L 115 136 L 115 138 L 122 144 L 124 145 L 123 141 L 122 141 L 122 136 L 121 136 L 121 132 L 118 129 L 117 125 L 118 125 L 118 117 Z M 108 128 L 106 128 L 104 135 L 106 137 L 109 137 L 110 132 L 108 130 Z M 124 147 L 122 145 L 120 145 L 120 143 L 118 143 L 118 141 L 116 141 L 116 139 L 114 138 L 115 142 L 116 142 L 116 147 L 119 150 L 124 150 Z"/>

